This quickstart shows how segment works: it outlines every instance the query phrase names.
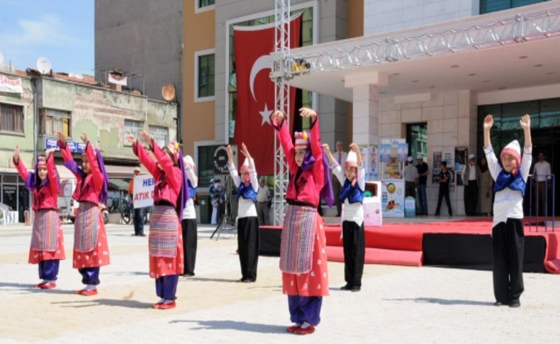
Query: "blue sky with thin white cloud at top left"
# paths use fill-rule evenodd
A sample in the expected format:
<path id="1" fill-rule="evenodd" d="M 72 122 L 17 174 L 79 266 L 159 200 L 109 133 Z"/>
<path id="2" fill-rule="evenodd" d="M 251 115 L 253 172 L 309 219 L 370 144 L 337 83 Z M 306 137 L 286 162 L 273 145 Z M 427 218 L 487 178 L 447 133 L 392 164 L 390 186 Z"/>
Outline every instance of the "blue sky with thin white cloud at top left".
<path id="1" fill-rule="evenodd" d="M 18 70 L 94 74 L 94 0 L 0 0 L 0 52 Z"/>

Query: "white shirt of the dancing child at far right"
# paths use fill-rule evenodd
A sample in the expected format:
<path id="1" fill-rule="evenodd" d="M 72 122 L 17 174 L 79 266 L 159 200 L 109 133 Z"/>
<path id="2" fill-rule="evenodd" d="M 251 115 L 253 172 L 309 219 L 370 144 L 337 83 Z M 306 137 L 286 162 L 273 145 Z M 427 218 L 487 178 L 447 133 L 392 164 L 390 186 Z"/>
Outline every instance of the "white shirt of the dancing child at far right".
<path id="1" fill-rule="evenodd" d="M 502 171 L 502 167 L 498 164 L 498 158 L 495 157 L 492 146 L 484 150 L 486 161 L 488 161 L 488 170 L 492 178 L 498 178 L 498 174 Z M 523 149 L 523 157 L 521 159 L 521 177 L 527 182 L 527 176 L 531 168 L 532 148 Z M 506 187 L 500 192 L 495 193 L 494 197 L 494 219 L 492 227 L 500 222 L 508 221 L 508 218 L 523 218 L 523 195 L 520 191 L 515 191 Z"/>

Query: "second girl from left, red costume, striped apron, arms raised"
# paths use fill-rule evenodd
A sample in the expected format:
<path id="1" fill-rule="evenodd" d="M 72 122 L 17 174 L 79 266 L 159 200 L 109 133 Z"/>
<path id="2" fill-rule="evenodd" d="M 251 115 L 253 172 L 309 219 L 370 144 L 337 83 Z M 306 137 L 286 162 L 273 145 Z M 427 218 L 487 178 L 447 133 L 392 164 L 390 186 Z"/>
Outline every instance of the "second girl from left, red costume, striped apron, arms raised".
<path id="1" fill-rule="evenodd" d="M 79 202 L 74 221 L 72 266 L 82 274 L 82 283 L 86 285 L 77 293 L 84 296 L 96 295 L 99 268 L 110 263 L 105 224 L 99 211 L 99 203 L 107 203 L 108 177 L 105 164 L 101 152 L 94 150 L 86 133 L 80 136 L 86 144 L 81 168 L 72 157 L 65 135 L 57 133 L 57 136 L 64 165 L 77 179 L 76 189 L 72 194 L 72 198 Z"/>

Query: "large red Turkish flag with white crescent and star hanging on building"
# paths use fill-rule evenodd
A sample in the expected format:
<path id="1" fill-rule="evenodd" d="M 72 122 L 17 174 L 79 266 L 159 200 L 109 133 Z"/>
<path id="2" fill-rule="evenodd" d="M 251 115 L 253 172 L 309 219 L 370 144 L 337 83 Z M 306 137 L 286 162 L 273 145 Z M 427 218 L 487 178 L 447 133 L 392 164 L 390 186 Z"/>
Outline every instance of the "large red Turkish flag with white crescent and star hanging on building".
<path id="1" fill-rule="evenodd" d="M 269 77 L 274 52 L 274 24 L 235 26 L 235 69 L 237 107 L 233 142 L 247 145 L 259 174 L 274 174 L 274 140 L 276 135 L 270 116 L 274 112 L 274 82 Z M 299 46 L 301 16 L 290 22 L 290 48 Z M 296 89 L 290 87 L 290 124 Z M 238 155 L 238 163 L 245 157 Z"/>

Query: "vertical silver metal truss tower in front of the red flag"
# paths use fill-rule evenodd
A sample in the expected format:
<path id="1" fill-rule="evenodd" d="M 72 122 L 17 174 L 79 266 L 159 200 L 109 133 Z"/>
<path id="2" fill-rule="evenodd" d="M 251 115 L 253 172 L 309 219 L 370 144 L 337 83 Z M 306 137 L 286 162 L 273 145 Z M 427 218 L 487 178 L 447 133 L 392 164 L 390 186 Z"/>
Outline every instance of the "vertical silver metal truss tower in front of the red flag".
<path id="1" fill-rule="evenodd" d="M 274 109 L 286 114 L 286 125 L 290 119 L 290 91 L 285 74 L 289 70 L 288 56 L 290 55 L 290 0 L 274 0 L 274 66 L 271 79 L 274 81 Z M 274 57 L 273 57 L 274 58 Z M 274 71 L 280 71 L 279 73 Z M 274 225 L 284 223 L 286 213 L 286 189 L 288 188 L 289 169 L 284 160 L 284 150 L 279 140 L 274 137 Z"/>

